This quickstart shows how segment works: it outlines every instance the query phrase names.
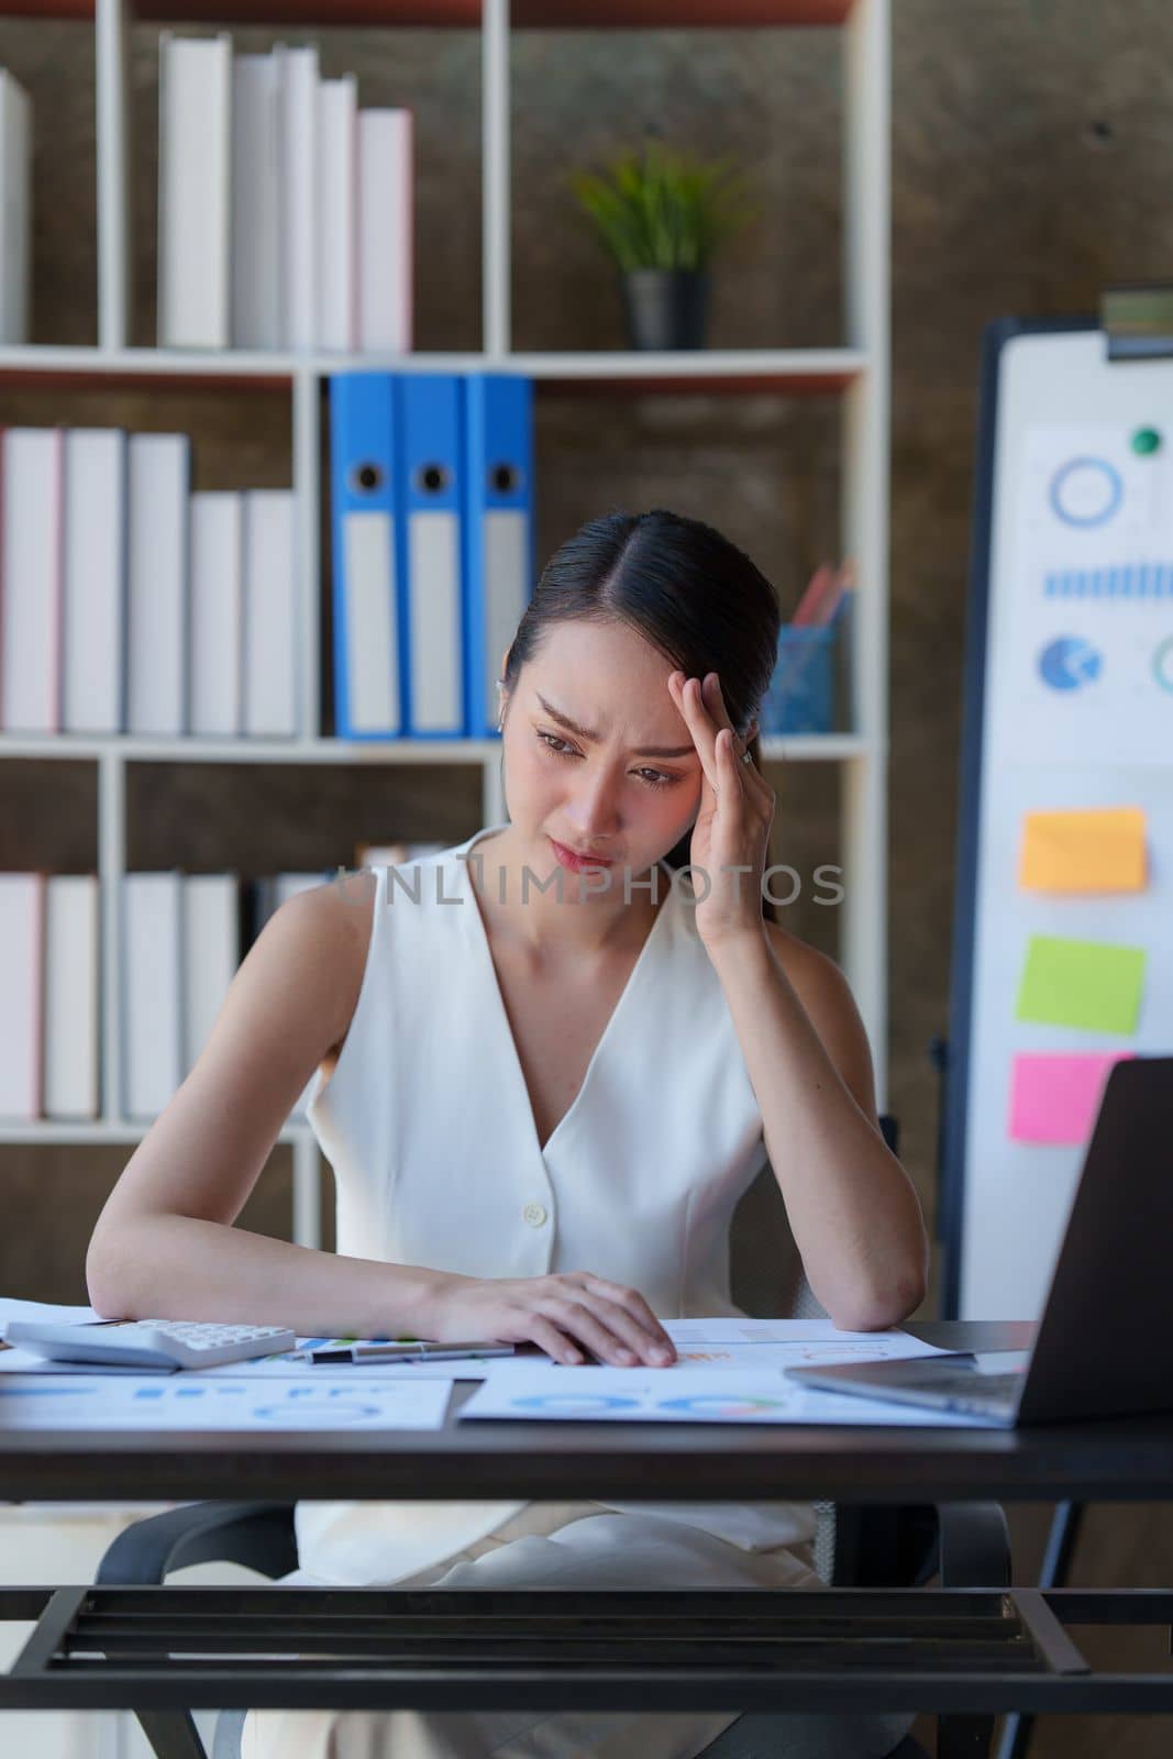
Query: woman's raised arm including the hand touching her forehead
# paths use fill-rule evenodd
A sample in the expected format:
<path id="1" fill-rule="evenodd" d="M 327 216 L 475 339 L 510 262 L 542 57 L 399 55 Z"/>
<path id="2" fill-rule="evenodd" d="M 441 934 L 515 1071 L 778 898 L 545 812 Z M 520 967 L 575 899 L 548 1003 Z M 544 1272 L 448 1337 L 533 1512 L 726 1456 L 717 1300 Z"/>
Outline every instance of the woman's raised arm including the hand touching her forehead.
<path id="1" fill-rule="evenodd" d="M 844 1332 L 895 1325 L 923 1300 L 929 1242 L 879 1133 L 855 999 L 830 959 L 761 916 L 777 799 L 744 762 L 718 674 L 674 672 L 668 693 L 703 777 L 689 844 L 707 881 L 696 932 L 725 989 L 807 1281 Z"/>

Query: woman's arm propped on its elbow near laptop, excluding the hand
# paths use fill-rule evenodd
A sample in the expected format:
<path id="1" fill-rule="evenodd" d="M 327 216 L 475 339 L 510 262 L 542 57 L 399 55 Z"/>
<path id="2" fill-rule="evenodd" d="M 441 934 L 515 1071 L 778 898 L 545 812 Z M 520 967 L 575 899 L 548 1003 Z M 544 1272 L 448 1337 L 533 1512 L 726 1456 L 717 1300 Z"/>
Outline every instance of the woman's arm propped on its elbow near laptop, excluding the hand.
<path id="1" fill-rule="evenodd" d="M 774 923 L 710 952 L 807 1281 L 844 1332 L 897 1325 L 925 1296 L 913 1184 L 876 1117 L 872 1059 L 834 960 Z"/>

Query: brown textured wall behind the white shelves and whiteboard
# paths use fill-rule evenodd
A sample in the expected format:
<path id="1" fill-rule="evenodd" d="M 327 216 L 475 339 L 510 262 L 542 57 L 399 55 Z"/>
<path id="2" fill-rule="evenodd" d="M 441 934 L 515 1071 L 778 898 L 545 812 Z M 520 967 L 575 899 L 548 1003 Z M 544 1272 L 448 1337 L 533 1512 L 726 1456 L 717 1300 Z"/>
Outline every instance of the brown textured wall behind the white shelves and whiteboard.
<path id="1" fill-rule="evenodd" d="M 1002 313 L 1094 310 L 1111 280 L 1159 278 L 1173 259 L 1173 12 L 1161 0 L 897 0 L 893 19 L 893 422 L 892 422 L 892 1078 L 904 1159 L 932 1208 L 936 1087 L 925 1047 L 944 1025 L 953 895 L 957 748 L 974 387 L 981 325 Z M 297 33 L 281 33 L 299 40 Z M 234 32 L 237 49 L 273 33 Z M 420 348 L 480 341 L 480 93 L 473 33 L 318 35 L 327 74 L 359 72 L 361 104 L 417 113 Z M 93 44 L 83 25 L 2 23 L 0 63 L 37 106 L 37 341 L 95 341 Z M 157 32 L 134 39 L 137 151 L 135 341 L 153 341 Z M 841 56 L 835 32 L 528 32 L 514 56 L 514 339 L 522 348 L 621 345 L 607 262 L 572 211 L 570 164 L 628 139 L 644 120 L 754 167 L 765 218 L 718 276 L 718 347 L 832 345 L 841 334 Z M 93 399 L 81 399 L 93 408 Z M 79 420 L 51 392 L 0 396 L 0 420 Z M 208 485 L 288 480 L 280 399 L 244 410 L 200 392 L 123 396 L 97 420 L 197 436 Z M 538 552 L 612 505 L 668 505 L 719 524 L 776 580 L 784 610 L 837 536 L 832 401 L 589 396 L 542 399 Z M 69 867 L 93 848 L 93 783 L 53 765 L 0 770 L 0 862 Z M 809 872 L 835 860 L 834 767 L 772 772 L 776 860 Z M 267 777 L 262 777 L 267 781 Z M 413 770 L 290 776 L 251 813 L 255 772 L 135 772 L 134 858 L 174 832 L 193 862 L 271 867 L 346 860 L 359 837 L 464 836 L 475 777 L 450 772 L 427 797 Z M 470 816 L 470 813 L 473 816 Z M 830 950 L 830 911 L 786 920 Z M 5 1210 L 33 1189 L 77 1193 L 70 1237 L 37 1263 L 37 1291 L 79 1298 L 72 1245 L 118 1171 L 121 1150 L 0 1150 Z M 86 1168 L 79 1173 L 77 1168 Z M 40 1173 L 40 1179 L 37 1177 Z M 287 1194 L 267 1224 L 280 1228 Z M 83 1194 L 84 1193 L 84 1194 Z M 260 1194 L 257 1198 L 260 1201 Z M 58 1212 L 60 1214 L 60 1212 Z M 260 1224 L 260 1223 L 257 1223 Z M 55 1223 L 63 1228 L 65 1223 Z M 5 1228 L 0 1288 L 33 1293 Z M 72 1256 L 70 1256 L 72 1252 Z M 42 1281 L 44 1279 L 44 1281 Z M 1038 1520 L 1020 1522 L 1022 1567 Z M 1129 1562 L 1159 1580 L 1168 1525 L 1150 1511 L 1097 1511 L 1083 1576 Z M 1168 1569 L 1166 1569 L 1168 1574 Z M 1103 1578 L 1108 1580 L 1108 1578 Z M 1157 1724 L 1043 1729 L 1041 1752 L 1155 1752 Z"/>

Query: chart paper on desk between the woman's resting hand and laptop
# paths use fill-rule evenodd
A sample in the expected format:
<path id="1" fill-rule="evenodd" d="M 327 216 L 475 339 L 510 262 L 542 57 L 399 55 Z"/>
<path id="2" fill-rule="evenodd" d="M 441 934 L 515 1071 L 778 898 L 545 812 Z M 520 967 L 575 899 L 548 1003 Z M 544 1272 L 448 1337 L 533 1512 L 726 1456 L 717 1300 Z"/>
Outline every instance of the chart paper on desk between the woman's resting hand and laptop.
<path id="1" fill-rule="evenodd" d="M 781 1369 L 570 1369 L 498 1363 L 461 1405 L 464 1418 L 580 1423 L 848 1423 L 885 1428 L 974 1428 L 951 1411 L 918 1411 L 788 1381 Z"/>

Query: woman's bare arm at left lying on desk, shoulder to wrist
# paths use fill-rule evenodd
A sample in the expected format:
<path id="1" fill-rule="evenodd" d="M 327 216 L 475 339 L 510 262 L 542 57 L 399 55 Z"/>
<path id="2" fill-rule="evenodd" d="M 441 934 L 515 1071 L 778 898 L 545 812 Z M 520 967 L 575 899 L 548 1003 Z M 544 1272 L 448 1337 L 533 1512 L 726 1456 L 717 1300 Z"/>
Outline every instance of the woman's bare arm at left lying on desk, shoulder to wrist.
<path id="1" fill-rule="evenodd" d="M 438 1272 L 336 1258 L 232 1223 L 297 1096 L 346 1034 L 373 876 L 292 897 L 236 973 L 208 1043 L 98 1215 L 86 1256 L 106 1317 L 241 1319 L 302 1335 L 420 1333 Z M 366 908 L 361 908 L 364 906 Z M 422 1333 L 426 1335 L 426 1333 Z"/>

